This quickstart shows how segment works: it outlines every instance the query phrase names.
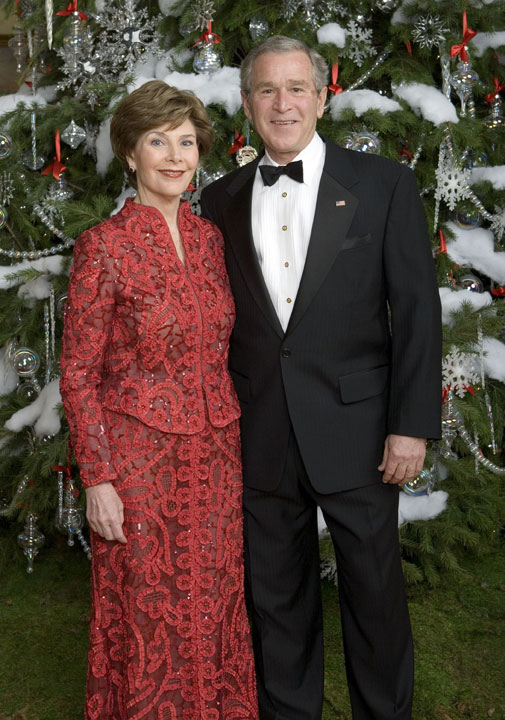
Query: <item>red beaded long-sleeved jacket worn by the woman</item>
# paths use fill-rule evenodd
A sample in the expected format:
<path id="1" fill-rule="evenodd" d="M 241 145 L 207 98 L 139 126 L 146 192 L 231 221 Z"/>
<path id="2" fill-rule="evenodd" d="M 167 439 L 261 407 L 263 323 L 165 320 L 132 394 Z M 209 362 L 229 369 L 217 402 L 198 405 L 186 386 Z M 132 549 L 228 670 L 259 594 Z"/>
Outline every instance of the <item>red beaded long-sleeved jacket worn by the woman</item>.
<path id="1" fill-rule="evenodd" d="M 187 202 L 178 222 L 185 265 L 161 213 L 131 199 L 76 242 L 60 388 L 85 486 L 116 477 L 104 409 L 182 434 L 240 415 L 222 236 Z"/>

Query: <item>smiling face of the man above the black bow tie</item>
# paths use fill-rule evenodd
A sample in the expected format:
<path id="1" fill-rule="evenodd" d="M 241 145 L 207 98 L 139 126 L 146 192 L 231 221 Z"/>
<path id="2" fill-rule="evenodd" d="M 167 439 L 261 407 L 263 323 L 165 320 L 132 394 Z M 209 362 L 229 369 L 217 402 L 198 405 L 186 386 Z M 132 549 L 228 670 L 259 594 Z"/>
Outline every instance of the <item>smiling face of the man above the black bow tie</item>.
<path id="1" fill-rule="evenodd" d="M 318 94 L 312 63 L 301 51 L 265 53 L 253 63 L 251 89 L 242 93 L 247 118 L 268 154 L 285 165 L 312 140 L 327 88 Z"/>

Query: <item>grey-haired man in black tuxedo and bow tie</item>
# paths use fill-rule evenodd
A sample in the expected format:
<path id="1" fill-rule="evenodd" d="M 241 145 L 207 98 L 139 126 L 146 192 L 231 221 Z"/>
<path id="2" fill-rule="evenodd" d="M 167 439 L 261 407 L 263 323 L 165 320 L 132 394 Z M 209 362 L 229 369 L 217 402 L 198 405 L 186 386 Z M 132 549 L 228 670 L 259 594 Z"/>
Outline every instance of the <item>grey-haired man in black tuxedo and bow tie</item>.
<path id="1" fill-rule="evenodd" d="M 439 437 L 441 395 L 419 194 L 403 165 L 315 132 L 327 67 L 303 43 L 266 40 L 241 81 L 265 154 L 206 188 L 202 212 L 224 234 L 237 311 L 229 366 L 242 406 L 260 716 L 321 717 L 319 505 L 337 557 L 353 718 L 406 720 L 398 485 L 420 472 L 425 439 Z"/>

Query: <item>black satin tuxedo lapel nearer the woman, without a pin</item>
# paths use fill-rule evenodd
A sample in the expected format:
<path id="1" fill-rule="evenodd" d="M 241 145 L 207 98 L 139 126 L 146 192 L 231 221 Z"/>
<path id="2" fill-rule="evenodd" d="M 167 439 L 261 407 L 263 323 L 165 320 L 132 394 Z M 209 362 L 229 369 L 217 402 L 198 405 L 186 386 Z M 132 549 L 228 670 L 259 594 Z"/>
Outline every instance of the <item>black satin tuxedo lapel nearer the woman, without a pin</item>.
<path id="1" fill-rule="evenodd" d="M 253 166 L 251 170 L 255 170 L 257 162 L 251 163 L 251 165 Z M 248 166 L 246 168 L 249 169 Z M 244 280 L 256 303 L 277 335 L 283 338 L 284 330 L 265 285 L 252 237 L 251 198 L 254 172 L 249 173 L 249 177 L 240 177 L 239 175 L 238 180 L 238 182 L 228 187 L 228 192 L 233 195 L 233 202 L 228 205 L 224 213 L 226 239 L 232 248 Z"/>

